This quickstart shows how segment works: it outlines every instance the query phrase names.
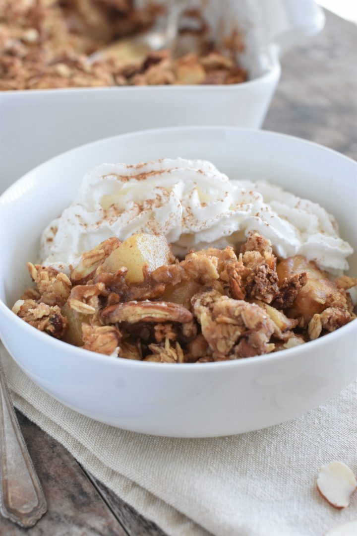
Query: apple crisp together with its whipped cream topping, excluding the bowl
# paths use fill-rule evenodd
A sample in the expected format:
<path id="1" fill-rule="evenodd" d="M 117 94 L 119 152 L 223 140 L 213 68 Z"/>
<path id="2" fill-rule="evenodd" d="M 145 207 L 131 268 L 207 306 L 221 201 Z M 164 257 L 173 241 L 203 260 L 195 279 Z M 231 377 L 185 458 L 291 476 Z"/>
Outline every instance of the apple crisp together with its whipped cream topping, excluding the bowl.
<path id="1" fill-rule="evenodd" d="M 103 234 L 112 236 L 95 243 Z M 82 252 L 85 244 L 95 245 Z M 341 274 L 351 251 L 321 206 L 230 181 L 208 161 L 104 164 L 44 230 L 47 258 L 27 264 L 35 287 L 12 310 L 52 337 L 119 358 L 249 358 L 355 318 L 347 291 L 357 279 Z"/>

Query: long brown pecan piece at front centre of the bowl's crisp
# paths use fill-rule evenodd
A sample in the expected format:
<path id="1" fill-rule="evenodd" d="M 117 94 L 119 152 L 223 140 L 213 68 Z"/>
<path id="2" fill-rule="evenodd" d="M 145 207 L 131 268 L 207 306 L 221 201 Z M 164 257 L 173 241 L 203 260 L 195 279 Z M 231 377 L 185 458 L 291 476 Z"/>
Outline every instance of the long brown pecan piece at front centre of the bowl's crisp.
<path id="1" fill-rule="evenodd" d="M 131 301 L 116 303 L 103 309 L 101 314 L 104 324 L 117 322 L 191 322 L 192 312 L 185 307 L 171 302 Z"/>

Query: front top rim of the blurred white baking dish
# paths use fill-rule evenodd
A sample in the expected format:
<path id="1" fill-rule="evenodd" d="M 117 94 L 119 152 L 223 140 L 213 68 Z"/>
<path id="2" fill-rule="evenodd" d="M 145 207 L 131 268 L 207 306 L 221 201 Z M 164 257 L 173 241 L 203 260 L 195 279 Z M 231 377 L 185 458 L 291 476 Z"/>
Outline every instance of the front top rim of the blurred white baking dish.
<path id="1" fill-rule="evenodd" d="M 206 93 L 212 92 L 212 91 L 218 91 L 223 90 L 227 91 L 242 91 L 241 88 L 253 89 L 255 86 L 260 85 L 264 82 L 269 82 L 271 80 L 275 80 L 279 78 L 280 72 L 282 70 L 280 61 L 279 61 L 279 49 L 275 44 L 270 44 L 267 48 L 260 51 L 260 55 L 263 53 L 267 53 L 269 56 L 269 67 L 267 67 L 264 72 L 260 76 L 256 76 L 252 78 L 251 80 L 246 80 L 244 82 L 241 82 L 239 84 L 168 84 L 168 85 L 153 85 L 153 86 L 99 86 L 99 87 L 62 87 L 62 88 L 46 88 L 46 89 L 36 89 L 36 90 L 7 90 L 7 91 L 0 91 L 0 100 L 3 95 L 33 95 L 33 94 L 39 94 L 44 95 L 46 93 L 49 94 L 76 94 L 80 92 L 85 93 L 102 93 L 102 92 L 120 92 L 121 93 L 127 93 L 131 91 L 140 91 L 140 92 L 153 92 L 153 91 L 204 91 Z M 239 88 L 239 89 L 238 89 Z"/>

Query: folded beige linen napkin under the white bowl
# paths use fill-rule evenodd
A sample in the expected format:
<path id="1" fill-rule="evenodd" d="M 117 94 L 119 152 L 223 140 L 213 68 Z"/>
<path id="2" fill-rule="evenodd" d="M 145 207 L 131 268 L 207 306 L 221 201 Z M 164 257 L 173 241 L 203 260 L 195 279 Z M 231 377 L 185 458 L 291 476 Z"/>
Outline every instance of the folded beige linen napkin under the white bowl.
<path id="1" fill-rule="evenodd" d="M 357 474 L 356 385 L 306 415 L 231 437 L 171 439 L 103 425 L 37 387 L 0 347 L 15 405 L 96 478 L 172 536 L 323 536 L 357 519 L 316 490 L 318 469 Z"/>

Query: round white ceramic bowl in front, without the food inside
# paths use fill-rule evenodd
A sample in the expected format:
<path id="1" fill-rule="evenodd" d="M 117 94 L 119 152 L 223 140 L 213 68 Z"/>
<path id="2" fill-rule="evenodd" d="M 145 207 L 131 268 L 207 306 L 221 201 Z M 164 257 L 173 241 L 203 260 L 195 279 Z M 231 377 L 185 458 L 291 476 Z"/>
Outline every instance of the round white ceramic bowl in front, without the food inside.
<path id="1" fill-rule="evenodd" d="M 265 177 L 336 215 L 357 251 L 357 164 L 328 148 L 271 132 L 225 127 L 151 130 L 104 139 L 27 173 L 0 197 L 0 331 L 22 370 L 62 403 L 148 434 L 237 434 L 292 419 L 357 376 L 357 322 L 297 348 L 205 364 L 113 359 L 55 340 L 9 307 L 29 284 L 42 229 L 98 163 L 159 157 L 209 159 L 232 178 Z M 357 273 L 357 255 L 350 258 Z"/>

